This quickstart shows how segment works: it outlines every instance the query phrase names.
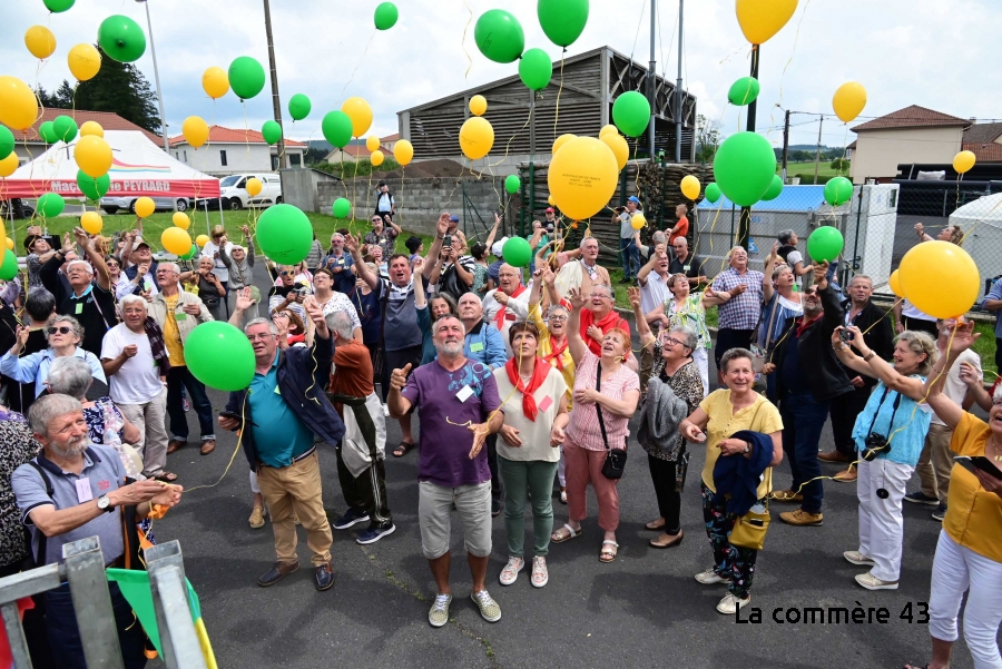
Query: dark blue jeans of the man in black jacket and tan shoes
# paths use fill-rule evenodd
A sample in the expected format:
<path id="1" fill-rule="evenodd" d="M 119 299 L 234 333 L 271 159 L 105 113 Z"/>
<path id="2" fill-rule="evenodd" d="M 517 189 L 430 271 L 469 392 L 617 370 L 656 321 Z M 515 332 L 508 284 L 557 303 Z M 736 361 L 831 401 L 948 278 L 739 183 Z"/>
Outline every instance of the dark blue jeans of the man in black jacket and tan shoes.
<path id="1" fill-rule="evenodd" d="M 817 461 L 818 441 L 822 427 L 828 417 L 829 402 L 818 402 L 811 393 L 794 394 L 786 392 L 779 403 L 783 417 L 783 451 L 789 460 L 793 473 L 794 492 L 804 495 L 800 509 L 807 513 L 821 513 L 825 488 L 821 481 L 806 481 L 821 476 L 821 463 Z"/>

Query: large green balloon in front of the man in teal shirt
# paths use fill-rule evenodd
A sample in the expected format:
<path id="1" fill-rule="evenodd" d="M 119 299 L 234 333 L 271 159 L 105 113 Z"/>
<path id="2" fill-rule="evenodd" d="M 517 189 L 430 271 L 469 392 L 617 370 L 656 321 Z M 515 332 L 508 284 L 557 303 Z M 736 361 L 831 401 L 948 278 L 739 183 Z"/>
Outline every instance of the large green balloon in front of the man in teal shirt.
<path id="1" fill-rule="evenodd" d="M 254 378 L 254 348 L 246 335 L 223 321 L 209 321 L 185 341 L 185 364 L 191 374 L 217 391 L 236 392 Z"/>

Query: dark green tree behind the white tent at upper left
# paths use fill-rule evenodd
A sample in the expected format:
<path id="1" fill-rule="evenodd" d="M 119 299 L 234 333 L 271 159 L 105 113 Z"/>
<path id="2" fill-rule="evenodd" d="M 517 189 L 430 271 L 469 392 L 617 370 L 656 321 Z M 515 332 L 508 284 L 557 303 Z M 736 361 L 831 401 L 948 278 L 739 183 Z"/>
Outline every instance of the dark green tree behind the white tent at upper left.
<path id="1" fill-rule="evenodd" d="M 111 111 L 140 128 L 160 134 L 157 96 L 150 89 L 149 81 L 136 66 L 118 62 L 104 53 L 101 69 L 94 79 L 77 87 L 76 109 Z"/>

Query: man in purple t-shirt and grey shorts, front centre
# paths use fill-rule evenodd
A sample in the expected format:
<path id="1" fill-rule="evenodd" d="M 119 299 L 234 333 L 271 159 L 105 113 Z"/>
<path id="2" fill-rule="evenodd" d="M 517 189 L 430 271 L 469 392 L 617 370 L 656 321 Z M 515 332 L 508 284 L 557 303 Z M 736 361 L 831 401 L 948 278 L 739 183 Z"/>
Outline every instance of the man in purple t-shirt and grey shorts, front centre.
<path id="1" fill-rule="evenodd" d="M 394 370 L 386 404 L 399 419 L 418 407 L 421 450 L 418 460 L 418 520 L 421 548 L 435 579 L 438 596 L 428 613 L 432 627 L 449 622 L 449 535 L 452 505 L 463 523 L 466 559 L 473 573 L 472 599 L 488 622 L 501 619 L 501 608 L 488 594 L 491 554 L 491 472 L 484 440 L 501 429 L 504 414 L 491 368 L 463 355 L 465 328 L 455 316 L 432 326 L 436 361 L 414 370 Z"/>

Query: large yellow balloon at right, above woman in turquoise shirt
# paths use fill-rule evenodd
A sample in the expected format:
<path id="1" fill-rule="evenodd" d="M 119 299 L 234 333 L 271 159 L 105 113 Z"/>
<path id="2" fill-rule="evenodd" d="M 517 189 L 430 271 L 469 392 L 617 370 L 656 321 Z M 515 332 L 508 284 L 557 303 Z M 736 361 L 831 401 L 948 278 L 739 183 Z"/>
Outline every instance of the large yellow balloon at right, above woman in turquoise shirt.
<path id="1" fill-rule="evenodd" d="M 908 302 L 936 318 L 966 314 L 981 289 L 974 259 L 950 242 L 916 244 L 901 259 L 897 272 Z"/>

